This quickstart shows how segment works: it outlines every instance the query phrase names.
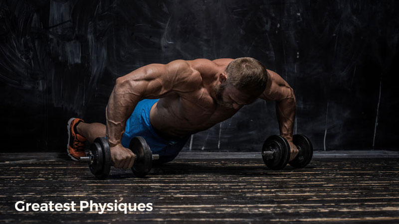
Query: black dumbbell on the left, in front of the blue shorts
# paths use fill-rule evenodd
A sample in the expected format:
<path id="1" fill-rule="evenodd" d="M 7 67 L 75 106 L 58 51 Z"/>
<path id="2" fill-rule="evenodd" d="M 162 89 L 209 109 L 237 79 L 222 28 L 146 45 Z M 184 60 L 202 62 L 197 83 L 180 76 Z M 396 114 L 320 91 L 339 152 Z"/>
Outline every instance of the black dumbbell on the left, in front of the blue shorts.
<path id="1" fill-rule="evenodd" d="M 132 167 L 136 177 L 145 177 L 152 168 L 152 161 L 159 159 L 158 154 L 152 154 L 150 147 L 143 137 L 134 137 L 129 144 L 129 149 L 135 154 Z M 111 169 L 111 150 L 106 138 L 98 137 L 90 145 L 86 156 L 79 157 L 80 162 L 87 162 L 90 171 L 97 179 L 106 179 Z"/>

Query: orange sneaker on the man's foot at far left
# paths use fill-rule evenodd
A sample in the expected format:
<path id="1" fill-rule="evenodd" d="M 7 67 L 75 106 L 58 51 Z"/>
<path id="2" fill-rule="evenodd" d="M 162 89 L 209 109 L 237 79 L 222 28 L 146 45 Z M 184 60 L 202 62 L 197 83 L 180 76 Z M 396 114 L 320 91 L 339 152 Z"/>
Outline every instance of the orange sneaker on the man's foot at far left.
<path id="1" fill-rule="evenodd" d="M 84 152 L 84 142 L 86 138 L 80 135 L 77 130 L 76 126 L 79 122 L 83 121 L 82 119 L 72 117 L 68 120 L 68 144 L 67 152 L 69 157 L 73 160 L 78 161 L 80 156 L 86 156 Z"/>

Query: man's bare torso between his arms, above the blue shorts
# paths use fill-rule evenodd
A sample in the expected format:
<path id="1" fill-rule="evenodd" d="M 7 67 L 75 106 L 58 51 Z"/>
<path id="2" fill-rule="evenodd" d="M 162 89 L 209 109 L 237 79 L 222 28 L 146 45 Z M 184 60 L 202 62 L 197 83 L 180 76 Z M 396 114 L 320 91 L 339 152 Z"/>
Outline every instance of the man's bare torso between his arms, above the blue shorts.
<path id="1" fill-rule="evenodd" d="M 184 137 L 231 117 L 239 108 L 217 105 L 213 87 L 218 81 L 219 73 L 223 73 L 232 60 L 197 59 L 179 62 L 187 63 L 191 73 L 183 71 L 176 75 L 191 88 L 186 91 L 172 91 L 161 98 L 151 110 L 152 125 L 166 135 Z"/>

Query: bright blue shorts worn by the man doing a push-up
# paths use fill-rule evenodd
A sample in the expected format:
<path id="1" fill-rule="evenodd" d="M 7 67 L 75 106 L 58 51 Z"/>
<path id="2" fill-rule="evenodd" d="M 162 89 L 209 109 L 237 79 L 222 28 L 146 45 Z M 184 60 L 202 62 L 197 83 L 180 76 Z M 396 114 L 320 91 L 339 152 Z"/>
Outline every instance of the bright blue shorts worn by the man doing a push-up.
<path id="1" fill-rule="evenodd" d="M 134 109 L 132 115 L 126 121 L 125 133 L 122 137 L 122 145 L 129 147 L 130 140 L 136 136 L 142 136 L 146 139 L 148 146 L 154 154 L 159 154 L 158 162 L 166 163 L 172 161 L 182 150 L 190 136 L 185 138 L 161 137 L 150 122 L 151 107 L 158 101 L 142 100 Z"/>

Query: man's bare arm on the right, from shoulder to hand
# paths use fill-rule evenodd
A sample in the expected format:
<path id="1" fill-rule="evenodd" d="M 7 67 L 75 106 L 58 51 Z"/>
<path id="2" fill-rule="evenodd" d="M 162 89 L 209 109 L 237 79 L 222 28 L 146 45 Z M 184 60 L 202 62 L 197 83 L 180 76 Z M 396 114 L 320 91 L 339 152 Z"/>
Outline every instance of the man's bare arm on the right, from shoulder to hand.
<path id="1" fill-rule="evenodd" d="M 267 70 L 268 80 L 261 99 L 276 102 L 276 114 L 280 135 L 285 137 L 291 147 L 290 160 L 298 154 L 298 149 L 292 142 L 296 101 L 294 90 L 277 73 Z"/>

